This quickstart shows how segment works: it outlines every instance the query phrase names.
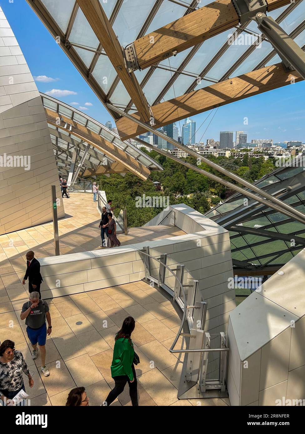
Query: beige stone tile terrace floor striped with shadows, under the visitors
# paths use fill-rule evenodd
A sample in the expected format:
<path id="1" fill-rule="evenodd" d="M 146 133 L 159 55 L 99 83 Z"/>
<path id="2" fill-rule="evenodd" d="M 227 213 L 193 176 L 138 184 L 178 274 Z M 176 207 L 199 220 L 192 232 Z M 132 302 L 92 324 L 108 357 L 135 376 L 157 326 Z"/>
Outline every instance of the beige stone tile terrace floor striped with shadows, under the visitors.
<path id="1" fill-rule="evenodd" d="M 101 239 L 100 214 L 92 195 L 71 194 L 65 210 L 66 217 L 58 224 L 60 253 L 96 249 Z M 171 226 L 133 228 L 125 240 L 119 238 L 122 244 L 130 244 L 180 234 Z M 0 236 L 0 342 L 12 339 L 23 353 L 34 378 L 32 389 L 25 378 L 32 406 L 64 405 L 76 386 L 86 388 L 90 405 L 100 406 L 114 387 L 110 371 L 114 335 L 129 315 L 136 319 L 133 340 L 141 359 L 136 369 L 140 405 L 230 404 L 220 398 L 177 399 L 183 355 L 168 349 L 180 320 L 171 302 L 142 281 L 48 300 L 53 325 L 46 344 L 50 377 L 41 376 L 40 357 L 32 359 L 26 326 L 20 320 L 20 309 L 28 299 L 21 280 L 27 250 L 34 250 L 37 258 L 53 256 L 52 240 L 52 223 Z M 176 348 L 181 343 L 180 338 Z M 131 405 L 128 387 L 112 405 Z"/>

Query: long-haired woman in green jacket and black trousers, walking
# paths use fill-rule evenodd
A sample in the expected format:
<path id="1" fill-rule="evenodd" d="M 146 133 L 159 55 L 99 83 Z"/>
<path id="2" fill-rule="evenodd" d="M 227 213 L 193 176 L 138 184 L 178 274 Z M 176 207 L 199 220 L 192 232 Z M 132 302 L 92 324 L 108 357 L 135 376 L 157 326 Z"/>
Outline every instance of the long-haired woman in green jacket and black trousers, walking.
<path id="1" fill-rule="evenodd" d="M 128 316 L 124 319 L 121 330 L 115 335 L 111 364 L 111 377 L 114 379 L 115 386 L 107 396 L 105 406 L 110 405 L 123 392 L 127 382 L 131 404 L 138 405 L 137 377 L 134 369 L 134 344 L 131 340 L 134 327 L 134 319 L 132 316 Z"/>

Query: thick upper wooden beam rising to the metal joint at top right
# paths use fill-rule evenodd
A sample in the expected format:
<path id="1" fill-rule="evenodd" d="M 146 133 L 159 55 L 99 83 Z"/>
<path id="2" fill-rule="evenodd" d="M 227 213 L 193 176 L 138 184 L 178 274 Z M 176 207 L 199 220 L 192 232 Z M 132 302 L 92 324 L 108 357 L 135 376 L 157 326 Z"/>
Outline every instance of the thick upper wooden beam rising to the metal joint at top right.
<path id="1" fill-rule="evenodd" d="M 274 10 L 291 1 L 267 0 L 267 3 L 268 10 Z M 141 69 L 148 68 L 173 56 L 173 52 L 180 53 L 238 23 L 231 0 L 217 0 L 134 41 L 138 65 Z"/>

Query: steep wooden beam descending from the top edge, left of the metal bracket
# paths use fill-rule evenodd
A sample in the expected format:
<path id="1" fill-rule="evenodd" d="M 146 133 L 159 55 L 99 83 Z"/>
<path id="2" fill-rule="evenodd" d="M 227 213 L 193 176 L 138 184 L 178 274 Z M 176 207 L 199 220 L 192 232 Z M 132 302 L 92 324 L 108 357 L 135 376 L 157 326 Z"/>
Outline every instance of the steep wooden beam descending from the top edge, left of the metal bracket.
<path id="1" fill-rule="evenodd" d="M 117 36 L 107 15 L 104 13 L 101 3 L 98 0 L 77 0 L 77 3 L 80 5 L 80 9 L 83 11 L 97 39 L 107 53 L 117 75 L 120 77 L 134 105 L 137 107 L 141 118 L 144 122 L 148 122 L 151 117 L 149 104 L 134 73 L 129 73 L 126 69 L 122 47 L 117 40 Z"/>

